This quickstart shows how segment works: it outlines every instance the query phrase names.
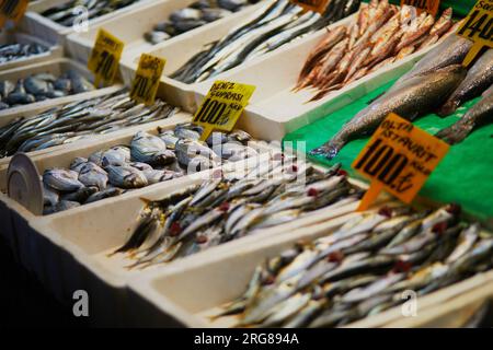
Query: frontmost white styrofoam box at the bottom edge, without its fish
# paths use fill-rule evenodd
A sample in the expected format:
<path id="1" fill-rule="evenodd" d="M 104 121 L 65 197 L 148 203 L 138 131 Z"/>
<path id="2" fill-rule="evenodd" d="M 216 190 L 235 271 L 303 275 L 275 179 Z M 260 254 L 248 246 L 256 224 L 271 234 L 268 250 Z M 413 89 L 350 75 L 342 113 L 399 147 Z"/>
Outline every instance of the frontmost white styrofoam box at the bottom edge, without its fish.
<path id="1" fill-rule="evenodd" d="M 280 254 L 294 243 L 313 240 L 332 233 L 352 215 L 337 218 L 312 228 L 301 228 L 284 235 L 265 237 L 262 243 L 243 245 L 241 250 L 223 252 L 221 255 L 203 257 L 200 261 L 183 261 L 165 271 L 153 271 L 130 281 L 129 288 L 141 298 L 141 319 L 146 326 L 164 326 L 160 315 L 174 315 L 176 320 L 188 327 L 230 327 L 236 316 L 211 320 L 210 316 L 220 312 L 220 306 L 241 296 L 255 267 L 265 259 Z M 452 284 L 437 292 L 417 299 L 417 313 L 429 307 L 442 307 L 442 303 L 493 281 L 493 271 L 479 273 L 468 280 Z M 491 284 L 490 284 L 491 285 Z M 491 292 L 491 291 L 490 291 Z M 131 306 L 133 303 L 130 303 Z M 139 312 L 135 315 L 138 317 Z M 364 318 L 347 327 L 383 327 L 403 322 L 401 306 L 379 315 Z M 149 323 L 149 324 L 147 324 Z"/>

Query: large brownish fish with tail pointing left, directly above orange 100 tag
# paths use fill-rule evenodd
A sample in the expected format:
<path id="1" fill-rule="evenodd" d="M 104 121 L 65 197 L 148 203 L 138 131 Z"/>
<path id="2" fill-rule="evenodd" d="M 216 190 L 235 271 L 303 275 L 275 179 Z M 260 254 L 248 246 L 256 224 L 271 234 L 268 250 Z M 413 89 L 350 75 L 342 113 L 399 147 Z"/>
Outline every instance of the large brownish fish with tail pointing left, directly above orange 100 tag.
<path id="1" fill-rule="evenodd" d="M 347 121 L 329 142 L 312 150 L 312 155 L 333 159 L 352 139 L 371 133 L 393 112 L 414 119 L 439 105 L 466 77 L 461 66 L 450 66 L 425 77 L 415 77 L 400 89 L 387 93 Z"/>

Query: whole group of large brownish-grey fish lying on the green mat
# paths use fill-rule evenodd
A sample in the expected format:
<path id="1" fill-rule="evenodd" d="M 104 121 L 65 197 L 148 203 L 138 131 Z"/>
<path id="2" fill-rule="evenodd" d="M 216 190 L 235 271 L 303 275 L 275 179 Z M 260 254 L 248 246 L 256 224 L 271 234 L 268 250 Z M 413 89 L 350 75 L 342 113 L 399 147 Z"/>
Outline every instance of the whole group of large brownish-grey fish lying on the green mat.
<path id="1" fill-rule="evenodd" d="M 479 55 L 471 69 L 461 63 L 473 43 L 451 35 L 401 77 L 382 96 L 347 121 L 330 141 L 311 151 L 333 159 L 352 139 L 374 132 L 393 112 L 413 120 L 438 110 L 443 116 L 456 112 L 465 102 L 480 96 L 493 84 L 493 49 Z M 451 143 L 463 140 L 474 127 L 493 122 L 492 89 L 458 125 L 438 136 Z"/>

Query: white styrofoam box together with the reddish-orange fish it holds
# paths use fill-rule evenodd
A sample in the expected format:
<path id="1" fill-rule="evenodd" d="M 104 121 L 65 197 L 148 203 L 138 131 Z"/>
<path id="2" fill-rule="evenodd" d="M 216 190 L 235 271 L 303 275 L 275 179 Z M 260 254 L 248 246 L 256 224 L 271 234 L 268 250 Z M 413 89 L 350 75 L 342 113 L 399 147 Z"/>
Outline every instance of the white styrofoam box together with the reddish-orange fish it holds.
<path id="1" fill-rule="evenodd" d="M 451 9 L 436 22 L 415 12 L 412 7 L 391 8 L 387 1 L 363 4 L 357 14 L 326 27 L 329 33 L 319 32 L 226 72 L 225 79 L 257 89 L 242 127 L 279 139 L 401 77 L 457 28 Z M 198 101 L 210 85 L 196 88 Z"/>

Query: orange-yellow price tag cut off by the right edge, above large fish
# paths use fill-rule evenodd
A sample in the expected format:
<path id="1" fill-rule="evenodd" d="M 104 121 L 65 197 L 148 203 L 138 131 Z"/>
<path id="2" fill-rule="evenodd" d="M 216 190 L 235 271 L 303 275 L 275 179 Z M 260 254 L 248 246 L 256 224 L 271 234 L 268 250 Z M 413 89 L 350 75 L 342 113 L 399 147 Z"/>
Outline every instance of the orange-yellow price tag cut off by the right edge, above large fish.
<path id="1" fill-rule="evenodd" d="M 469 67 L 484 46 L 493 47 L 493 0 L 479 0 L 457 34 L 474 42 L 462 63 Z"/>

